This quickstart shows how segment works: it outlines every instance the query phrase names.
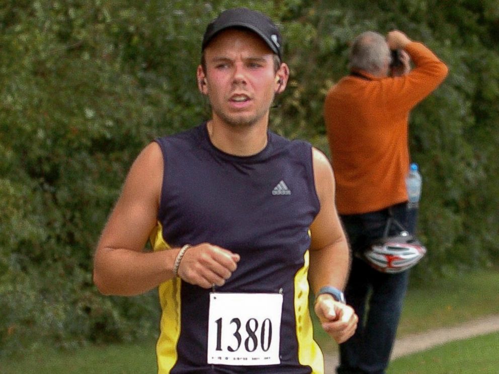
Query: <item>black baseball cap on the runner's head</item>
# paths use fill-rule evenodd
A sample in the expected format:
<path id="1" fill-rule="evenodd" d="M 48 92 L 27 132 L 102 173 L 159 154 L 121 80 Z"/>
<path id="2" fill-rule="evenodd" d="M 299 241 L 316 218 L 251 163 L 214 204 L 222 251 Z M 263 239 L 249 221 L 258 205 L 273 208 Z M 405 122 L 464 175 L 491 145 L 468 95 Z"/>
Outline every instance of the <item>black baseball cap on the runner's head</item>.
<path id="1" fill-rule="evenodd" d="M 243 7 L 223 11 L 206 27 L 201 50 L 206 48 L 216 34 L 231 27 L 242 27 L 257 33 L 282 59 L 282 38 L 277 26 L 263 13 Z"/>

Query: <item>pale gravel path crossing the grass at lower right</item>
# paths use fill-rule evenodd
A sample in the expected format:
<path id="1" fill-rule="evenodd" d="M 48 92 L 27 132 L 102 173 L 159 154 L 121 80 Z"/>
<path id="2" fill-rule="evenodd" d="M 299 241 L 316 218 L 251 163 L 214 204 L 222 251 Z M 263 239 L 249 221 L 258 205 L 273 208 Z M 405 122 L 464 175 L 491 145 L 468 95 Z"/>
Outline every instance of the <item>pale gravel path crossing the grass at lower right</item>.
<path id="1" fill-rule="evenodd" d="M 499 315 L 480 318 L 451 328 L 409 335 L 395 341 L 391 358 L 395 359 L 407 354 L 424 351 L 449 341 L 468 339 L 496 331 L 499 331 Z M 338 355 L 336 352 L 324 354 L 324 374 L 335 374 L 337 365 Z"/>

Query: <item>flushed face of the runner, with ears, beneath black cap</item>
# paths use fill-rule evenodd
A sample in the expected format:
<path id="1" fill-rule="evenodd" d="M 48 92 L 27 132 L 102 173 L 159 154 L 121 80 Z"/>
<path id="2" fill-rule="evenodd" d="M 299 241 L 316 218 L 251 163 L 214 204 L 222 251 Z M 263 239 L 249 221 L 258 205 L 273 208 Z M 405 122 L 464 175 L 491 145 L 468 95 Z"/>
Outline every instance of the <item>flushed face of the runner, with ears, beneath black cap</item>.
<path id="1" fill-rule="evenodd" d="M 205 82 L 201 90 L 209 97 L 213 120 L 230 126 L 267 124 L 279 79 L 267 44 L 251 31 L 228 29 L 204 53 L 206 71 L 198 67 L 198 80 Z"/>

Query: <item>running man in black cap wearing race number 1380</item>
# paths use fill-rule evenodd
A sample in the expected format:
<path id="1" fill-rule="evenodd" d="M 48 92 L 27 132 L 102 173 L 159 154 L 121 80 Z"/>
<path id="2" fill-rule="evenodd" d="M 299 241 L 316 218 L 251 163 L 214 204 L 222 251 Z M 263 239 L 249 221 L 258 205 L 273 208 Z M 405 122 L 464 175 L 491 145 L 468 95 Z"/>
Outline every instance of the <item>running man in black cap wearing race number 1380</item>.
<path id="1" fill-rule="evenodd" d="M 102 233 L 101 292 L 159 287 L 159 373 L 322 373 L 308 280 L 323 329 L 339 343 L 355 331 L 329 162 L 268 129 L 289 77 L 281 46 L 246 8 L 208 25 L 197 81 L 211 119 L 143 149 Z"/>

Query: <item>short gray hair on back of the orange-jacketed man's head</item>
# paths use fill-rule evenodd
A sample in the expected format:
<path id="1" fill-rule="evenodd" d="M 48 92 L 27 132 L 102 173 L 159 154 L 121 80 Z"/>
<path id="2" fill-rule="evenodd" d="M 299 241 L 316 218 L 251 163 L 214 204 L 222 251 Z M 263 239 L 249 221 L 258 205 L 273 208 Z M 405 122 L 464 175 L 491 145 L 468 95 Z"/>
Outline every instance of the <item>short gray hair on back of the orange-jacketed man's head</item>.
<path id="1" fill-rule="evenodd" d="M 355 38 L 350 49 L 350 69 L 376 74 L 390 58 L 390 49 L 383 35 L 366 31 Z"/>

